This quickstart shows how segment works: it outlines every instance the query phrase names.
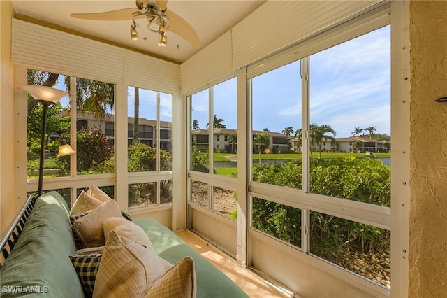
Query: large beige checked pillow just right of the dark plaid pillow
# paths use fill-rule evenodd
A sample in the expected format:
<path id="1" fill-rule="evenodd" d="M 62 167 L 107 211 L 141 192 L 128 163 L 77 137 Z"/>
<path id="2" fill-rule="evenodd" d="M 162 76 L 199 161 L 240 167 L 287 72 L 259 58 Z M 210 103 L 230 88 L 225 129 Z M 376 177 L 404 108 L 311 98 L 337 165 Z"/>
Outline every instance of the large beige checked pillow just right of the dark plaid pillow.
<path id="1" fill-rule="evenodd" d="M 152 251 L 111 231 L 96 276 L 93 297 L 145 297 L 173 267 Z"/>

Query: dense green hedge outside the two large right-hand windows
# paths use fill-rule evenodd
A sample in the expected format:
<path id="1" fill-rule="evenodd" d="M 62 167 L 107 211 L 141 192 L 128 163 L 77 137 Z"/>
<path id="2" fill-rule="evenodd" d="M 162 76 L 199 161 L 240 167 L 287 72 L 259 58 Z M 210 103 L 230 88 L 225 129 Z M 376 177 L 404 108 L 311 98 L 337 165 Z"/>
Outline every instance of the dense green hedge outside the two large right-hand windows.
<path id="1" fill-rule="evenodd" d="M 301 188 L 301 162 L 254 165 L 253 179 L 284 187 Z M 312 159 L 310 190 L 331 197 L 390 206 L 390 167 L 378 159 Z M 272 201 L 254 198 L 254 228 L 295 246 L 301 244 L 301 211 Z M 330 260 L 344 250 L 386 248 L 390 232 L 332 215 L 311 212 L 312 253 Z"/>

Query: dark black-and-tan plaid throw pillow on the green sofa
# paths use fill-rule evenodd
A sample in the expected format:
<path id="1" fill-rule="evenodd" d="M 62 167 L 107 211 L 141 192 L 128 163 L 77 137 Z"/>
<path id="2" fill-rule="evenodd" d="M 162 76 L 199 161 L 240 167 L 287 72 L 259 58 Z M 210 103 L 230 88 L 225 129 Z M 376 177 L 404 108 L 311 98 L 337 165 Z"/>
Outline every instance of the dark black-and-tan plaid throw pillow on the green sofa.
<path id="1" fill-rule="evenodd" d="M 78 278 L 82 284 L 86 297 L 93 296 L 93 289 L 98 274 L 99 262 L 102 254 L 94 253 L 91 255 L 71 255 L 70 260 L 75 267 Z"/>

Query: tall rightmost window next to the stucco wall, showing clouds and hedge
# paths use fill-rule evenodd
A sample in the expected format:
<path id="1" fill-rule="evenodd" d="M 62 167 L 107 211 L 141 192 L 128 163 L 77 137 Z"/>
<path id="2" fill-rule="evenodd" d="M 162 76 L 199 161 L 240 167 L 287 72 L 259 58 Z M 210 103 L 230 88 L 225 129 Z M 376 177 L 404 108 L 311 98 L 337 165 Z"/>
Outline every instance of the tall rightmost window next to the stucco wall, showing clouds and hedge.
<path id="1" fill-rule="evenodd" d="M 310 191 L 390 207 L 390 155 L 379 153 L 375 140 L 390 138 L 390 27 L 312 55 L 310 73 L 310 119 L 316 123 L 318 138 L 315 149 L 321 150 L 321 139 L 335 141 L 336 134 L 353 134 L 358 153 L 343 159 L 312 159 Z M 390 285 L 389 231 L 323 213 L 310 214 L 310 253 Z M 320 231 L 330 233 L 316 239 Z M 357 263 L 369 260 L 367 255 L 381 256 L 380 269 Z"/>

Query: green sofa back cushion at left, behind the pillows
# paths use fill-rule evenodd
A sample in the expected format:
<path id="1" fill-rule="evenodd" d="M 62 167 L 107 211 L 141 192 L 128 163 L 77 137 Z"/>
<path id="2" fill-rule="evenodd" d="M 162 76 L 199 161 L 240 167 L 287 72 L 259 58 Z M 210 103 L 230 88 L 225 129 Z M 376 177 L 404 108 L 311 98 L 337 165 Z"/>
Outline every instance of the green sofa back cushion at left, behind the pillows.
<path id="1" fill-rule="evenodd" d="M 43 194 L 1 269 L 1 297 L 84 297 L 73 253 L 66 202 L 57 192 Z"/>

